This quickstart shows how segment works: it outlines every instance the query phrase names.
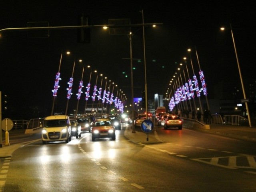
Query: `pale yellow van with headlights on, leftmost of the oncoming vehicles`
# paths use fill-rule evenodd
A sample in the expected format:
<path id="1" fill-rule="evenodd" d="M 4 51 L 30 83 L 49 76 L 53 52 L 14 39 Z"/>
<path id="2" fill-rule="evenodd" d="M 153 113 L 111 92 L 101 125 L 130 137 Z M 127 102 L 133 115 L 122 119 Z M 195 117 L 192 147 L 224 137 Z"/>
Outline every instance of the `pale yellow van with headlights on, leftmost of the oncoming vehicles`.
<path id="1" fill-rule="evenodd" d="M 69 116 L 54 115 L 44 118 L 42 142 L 71 141 L 71 124 Z"/>

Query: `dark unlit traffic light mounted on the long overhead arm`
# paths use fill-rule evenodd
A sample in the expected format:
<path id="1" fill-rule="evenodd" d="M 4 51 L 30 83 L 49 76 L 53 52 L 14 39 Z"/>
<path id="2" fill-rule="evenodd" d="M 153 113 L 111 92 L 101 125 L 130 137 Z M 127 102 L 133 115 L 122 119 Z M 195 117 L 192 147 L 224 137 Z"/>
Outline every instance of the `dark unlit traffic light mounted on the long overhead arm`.
<path id="1" fill-rule="evenodd" d="M 90 24 L 89 16 L 81 14 L 78 16 L 79 26 L 88 26 Z M 78 43 L 90 43 L 90 28 L 81 28 L 77 30 Z"/>

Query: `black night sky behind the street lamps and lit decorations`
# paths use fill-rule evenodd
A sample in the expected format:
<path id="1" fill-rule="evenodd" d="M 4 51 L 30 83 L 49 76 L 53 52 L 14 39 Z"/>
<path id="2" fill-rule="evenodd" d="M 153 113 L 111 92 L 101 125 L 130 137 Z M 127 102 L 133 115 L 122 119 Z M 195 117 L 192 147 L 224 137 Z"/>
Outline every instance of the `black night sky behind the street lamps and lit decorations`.
<path id="1" fill-rule="evenodd" d="M 232 98 L 234 87 L 240 88 L 238 66 L 230 30 L 220 31 L 221 26 L 232 29 L 240 68 L 244 82 L 255 80 L 255 31 L 256 14 L 254 1 L 4 1 L 0 6 L 0 29 L 27 27 L 27 22 L 49 22 L 50 26 L 76 26 L 80 14 L 90 18 L 90 25 L 108 24 L 108 19 L 130 18 L 131 24 L 163 23 L 156 28 L 145 27 L 146 74 L 148 98 L 154 94 L 165 95 L 170 78 L 177 72 L 183 57 L 189 57 L 187 49 L 196 47 L 201 70 L 204 71 L 208 98 Z M 134 97 L 141 97 L 145 86 L 142 28 L 131 28 Z M 49 38 L 28 38 L 27 32 L 2 32 L 0 36 L 0 91 L 8 95 L 12 108 L 39 106 L 48 110 L 52 107 L 52 89 L 58 72 L 60 55 L 61 78 L 58 89 L 57 108 L 66 107 L 68 80 L 72 75 L 74 60 L 73 95 L 70 109 L 76 108 L 78 84 L 82 78 L 82 65 L 90 65 L 130 99 L 130 43 L 126 35 L 110 35 L 108 30 L 91 28 L 90 43 L 77 43 L 77 30 L 50 30 Z M 198 75 L 195 52 L 191 58 Z M 83 60 L 83 64 L 77 62 Z M 185 63 L 184 63 L 185 64 Z M 190 62 L 188 69 L 193 76 Z M 122 72 L 128 75 L 125 78 Z M 84 71 L 84 86 L 88 83 L 90 70 Z M 198 75 L 199 78 L 199 75 Z M 97 85 L 101 78 L 98 76 Z M 91 84 L 96 82 L 92 74 Z M 105 85 L 106 80 L 103 80 Z M 109 83 L 108 83 L 109 85 Z M 104 86 L 102 86 L 104 87 Z M 112 87 L 111 89 L 112 90 Z M 83 88 L 83 92 L 86 88 Z M 222 93 L 220 93 L 222 92 Z M 114 94 L 117 88 L 114 88 Z M 81 97 L 83 104 L 85 94 Z M 83 100 L 83 101 L 82 101 Z M 20 112 L 20 118 L 22 112 Z M 12 117 L 9 117 L 12 118 Z"/>

